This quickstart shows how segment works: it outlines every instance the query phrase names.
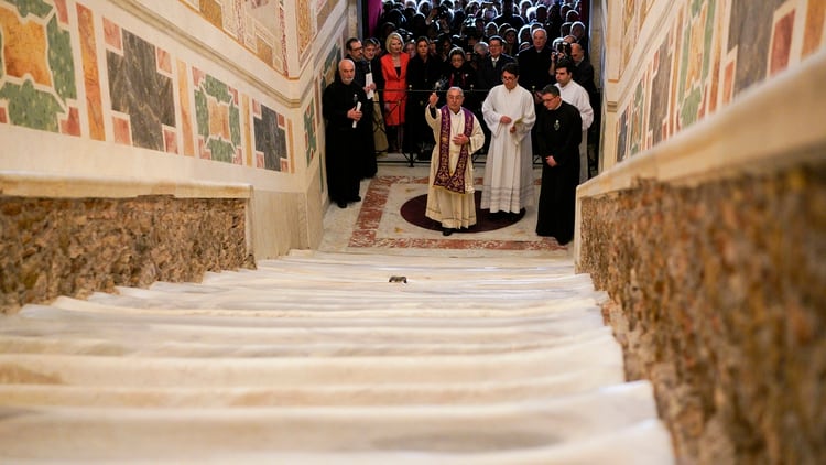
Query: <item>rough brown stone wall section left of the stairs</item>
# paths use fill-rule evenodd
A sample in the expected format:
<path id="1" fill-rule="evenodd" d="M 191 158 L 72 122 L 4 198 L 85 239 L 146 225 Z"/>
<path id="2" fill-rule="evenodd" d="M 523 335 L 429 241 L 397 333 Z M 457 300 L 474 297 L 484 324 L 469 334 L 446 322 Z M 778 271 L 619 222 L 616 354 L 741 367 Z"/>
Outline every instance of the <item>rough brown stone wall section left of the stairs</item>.
<path id="1" fill-rule="evenodd" d="M 252 268 L 246 199 L 0 196 L 0 310 Z"/>

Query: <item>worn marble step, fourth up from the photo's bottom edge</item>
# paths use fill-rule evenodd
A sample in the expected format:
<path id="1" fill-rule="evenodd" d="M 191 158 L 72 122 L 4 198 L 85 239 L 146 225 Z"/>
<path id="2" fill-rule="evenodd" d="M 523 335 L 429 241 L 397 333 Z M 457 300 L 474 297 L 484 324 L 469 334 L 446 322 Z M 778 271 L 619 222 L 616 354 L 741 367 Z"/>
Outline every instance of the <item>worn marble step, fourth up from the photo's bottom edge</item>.
<path id="1" fill-rule="evenodd" d="M 39 323 L 0 328 L 0 353 L 144 357 L 470 355 L 515 353 L 611 337 L 611 331 L 607 327 L 582 328 L 573 334 L 559 333 L 557 326 L 548 326 L 550 331 L 532 327 L 524 333 L 489 328 L 471 332 L 433 328 L 405 334 L 398 327 L 315 327 L 312 331 L 259 328 L 254 334 L 239 334 L 226 328 L 210 331 L 191 325 L 166 327 L 165 331 L 159 331 L 154 325 L 153 331 L 146 333 L 141 332 L 139 325 L 72 324 L 70 320 Z"/>

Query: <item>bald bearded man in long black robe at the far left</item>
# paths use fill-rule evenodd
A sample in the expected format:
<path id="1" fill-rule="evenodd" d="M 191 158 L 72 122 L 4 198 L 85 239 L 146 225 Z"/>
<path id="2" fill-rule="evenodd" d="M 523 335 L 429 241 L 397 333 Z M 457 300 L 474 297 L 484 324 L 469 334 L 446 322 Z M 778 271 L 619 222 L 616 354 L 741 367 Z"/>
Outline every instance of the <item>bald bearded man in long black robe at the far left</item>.
<path id="1" fill-rule="evenodd" d="M 340 208 L 359 202 L 359 181 L 366 139 L 372 138 L 372 121 L 362 118 L 369 105 L 365 89 L 355 82 L 356 64 L 338 62 L 336 80 L 324 89 L 322 113 L 326 119 L 326 167 L 329 198 Z"/>

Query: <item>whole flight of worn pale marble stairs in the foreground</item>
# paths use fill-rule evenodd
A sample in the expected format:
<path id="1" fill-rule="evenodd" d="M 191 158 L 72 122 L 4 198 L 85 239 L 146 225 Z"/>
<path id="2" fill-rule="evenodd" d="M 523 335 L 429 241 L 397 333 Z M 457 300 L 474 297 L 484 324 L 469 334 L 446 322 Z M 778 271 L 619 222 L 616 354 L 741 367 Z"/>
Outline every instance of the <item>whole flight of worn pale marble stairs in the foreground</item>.
<path id="1" fill-rule="evenodd" d="M 0 462 L 674 463 L 570 260 L 258 267 L 0 316 Z"/>

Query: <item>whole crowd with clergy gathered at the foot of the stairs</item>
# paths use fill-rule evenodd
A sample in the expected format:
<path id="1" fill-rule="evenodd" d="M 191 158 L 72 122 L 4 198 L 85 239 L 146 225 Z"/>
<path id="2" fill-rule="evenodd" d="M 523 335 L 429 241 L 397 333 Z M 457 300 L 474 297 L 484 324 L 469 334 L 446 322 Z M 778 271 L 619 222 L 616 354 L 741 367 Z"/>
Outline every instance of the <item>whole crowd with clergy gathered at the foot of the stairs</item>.
<path id="1" fill-rule="evenodd" d="M 471 154 L 487 153 L 481 208 L 492 216 L 532 205 L 536 156 L 536 233 L 569 241 L 568 210 L 576 185 L 588 179 L 588 129 L 599 104 L 579 1 L 385 1 L 377 36 L 346 42 L 341 63 L 349 64 L 339 64 L 323 99 L 330 181 L 340 173 L 329 161 L 332 140 L 345 143 L 334 151 L 362 155 L 350 161 L 346 187 L 330 182 L 330 197 L 340 207 L 354 202 L 354 183 L 376 174 L 377 152 L 432 159 L 426 215 L 449 235 L 476 223 Z M 543 209 L 564 212 L 564 220 Z"/>

